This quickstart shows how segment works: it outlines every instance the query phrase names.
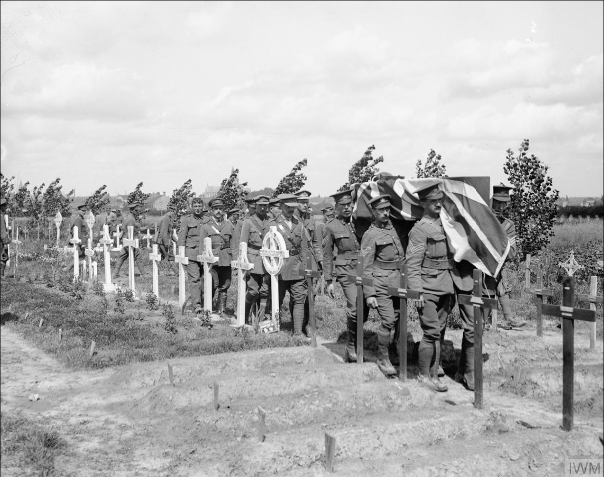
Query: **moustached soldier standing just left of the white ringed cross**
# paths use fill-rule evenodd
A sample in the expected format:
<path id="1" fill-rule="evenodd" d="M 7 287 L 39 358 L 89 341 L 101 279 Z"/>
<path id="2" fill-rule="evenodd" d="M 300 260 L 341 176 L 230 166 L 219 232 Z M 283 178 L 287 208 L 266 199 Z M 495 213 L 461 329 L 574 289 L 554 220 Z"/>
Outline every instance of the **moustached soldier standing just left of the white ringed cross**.
<path id="1" fill-rule="evenodd" d="M 269 299 L 271 286 L 271 276 L 266 272 L 262 263 L 262 256 L 259 250 L 262 248 L 262 241 L 266 235 L 266 224 L 269 221 L 266 211 L 269 206 L 269 198 L 266 195 L 259 195 L 255 203 L 256 213 L 250 218 L 245 219 L 241 230 L 241 241 L 248 244 L 248 262 L 254 264 L 250 270 L 247 288 L 245 294 L 245 320 L 252 322 L 250 314 L 255 303 L 260 300 L 260 307 L 256 316 L 262 319 L 264 316 Z"/>

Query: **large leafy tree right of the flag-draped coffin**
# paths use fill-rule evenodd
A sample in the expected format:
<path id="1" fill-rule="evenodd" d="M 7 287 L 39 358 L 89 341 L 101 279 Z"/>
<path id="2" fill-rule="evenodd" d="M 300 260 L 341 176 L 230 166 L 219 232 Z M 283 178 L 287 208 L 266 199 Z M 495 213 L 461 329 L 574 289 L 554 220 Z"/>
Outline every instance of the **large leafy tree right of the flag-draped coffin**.
<path id="1" fill-rule="evenodd" d="M 528 139 L 522 141 L 519 154 L 514 156 L 507 150 L 503 172 L 514 187 L 506 215 L 516 225 L 518 260 L 524 260 L 527 253 L 536 253 L 554 235 L 552 228 L 556 218 L 556 201 L 559 192 L 552 188 L 548 166 L 538 157 L 527 154 Z"/>

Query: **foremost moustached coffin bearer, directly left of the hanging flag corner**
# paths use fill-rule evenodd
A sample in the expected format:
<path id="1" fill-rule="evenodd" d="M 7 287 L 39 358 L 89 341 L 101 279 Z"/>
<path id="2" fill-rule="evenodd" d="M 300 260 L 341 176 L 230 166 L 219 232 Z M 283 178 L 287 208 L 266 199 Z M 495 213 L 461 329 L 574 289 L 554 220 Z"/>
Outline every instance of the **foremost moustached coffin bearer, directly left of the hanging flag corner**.
<path id="1" fill-rule="evenodd" d="M 422 292 L 419 300 L 413 300 L 423 331 L 417 380 L 445 392 L 448 387 L 439 377 L 440 348 L 447 317 L 455 305 L 455 262 L 440 220 L 442 190 L 432 186 L 418 195 L 423 215 L 411 229 L 405 258 L 409 288 Z"/>

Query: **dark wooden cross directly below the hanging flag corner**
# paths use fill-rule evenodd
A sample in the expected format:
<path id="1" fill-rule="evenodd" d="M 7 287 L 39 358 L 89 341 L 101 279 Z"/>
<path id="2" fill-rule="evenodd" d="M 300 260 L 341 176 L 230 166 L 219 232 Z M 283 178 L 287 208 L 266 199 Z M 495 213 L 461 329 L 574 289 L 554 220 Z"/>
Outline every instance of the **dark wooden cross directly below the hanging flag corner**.
<path id="1" fill-rule="evenodd" d="M 483 407 L 483 314 L 485 308 L 496 310 L 499 303 L 494 298 L 483 297 L 483 273 L 474 270 L 474 291 L 471 295 L 458 294 L 461 305 L 474 307 L 474 407 Z"/>

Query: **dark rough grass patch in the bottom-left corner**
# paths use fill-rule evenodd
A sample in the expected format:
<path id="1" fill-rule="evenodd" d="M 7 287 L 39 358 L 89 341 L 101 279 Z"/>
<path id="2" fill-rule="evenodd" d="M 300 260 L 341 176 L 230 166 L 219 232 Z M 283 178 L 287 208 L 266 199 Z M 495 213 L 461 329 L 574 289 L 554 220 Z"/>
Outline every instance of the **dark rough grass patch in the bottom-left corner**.
<path id="1" fill-rule="evenodd" d="M 54 461 L 64 447 L 56 429 L 21 415 L 0 412 L 2 475 L 59 475 Z"/>

